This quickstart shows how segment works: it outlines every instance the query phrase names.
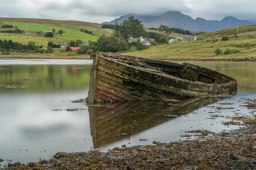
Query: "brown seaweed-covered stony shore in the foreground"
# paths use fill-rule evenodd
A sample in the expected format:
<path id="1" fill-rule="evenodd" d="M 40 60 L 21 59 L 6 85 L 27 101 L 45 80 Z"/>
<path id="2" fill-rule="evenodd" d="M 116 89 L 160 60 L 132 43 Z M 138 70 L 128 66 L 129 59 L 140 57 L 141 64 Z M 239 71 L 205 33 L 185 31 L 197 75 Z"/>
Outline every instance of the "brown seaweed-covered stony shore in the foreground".
<path id="1" fill-rule="evenodd" d="M 255 169 L 256 118 L 241 118 L 244 127 L 211 133 L 195 140 L 113 148 L 108 152 L 58 152 L 38 163 L 9 163 L 0 169 Z M 191 132 L 195 133 L 195 132 Z"/>

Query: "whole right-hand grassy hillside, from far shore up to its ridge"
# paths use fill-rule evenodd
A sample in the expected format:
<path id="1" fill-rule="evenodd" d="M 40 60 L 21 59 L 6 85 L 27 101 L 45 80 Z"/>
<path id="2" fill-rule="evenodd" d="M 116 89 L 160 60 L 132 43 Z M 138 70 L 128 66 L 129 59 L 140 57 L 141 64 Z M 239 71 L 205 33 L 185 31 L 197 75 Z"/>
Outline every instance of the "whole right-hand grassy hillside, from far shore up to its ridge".
<path id="1" fill-rule="evenodd" d="M 239 27 L 238 36 L 235 33 L 236 27 L 213 31 L 198 35 L 197 41 L 152 46 L 147 50 L 126 54 L 173 60 L 256 61 L 256 25 Z M 229 37 L 229 40 L 222 41 L 222 37 Z M 218 48 L 223 54 L 215 53 Z M 228 50 L 230 54 L 225 54 Z"/>

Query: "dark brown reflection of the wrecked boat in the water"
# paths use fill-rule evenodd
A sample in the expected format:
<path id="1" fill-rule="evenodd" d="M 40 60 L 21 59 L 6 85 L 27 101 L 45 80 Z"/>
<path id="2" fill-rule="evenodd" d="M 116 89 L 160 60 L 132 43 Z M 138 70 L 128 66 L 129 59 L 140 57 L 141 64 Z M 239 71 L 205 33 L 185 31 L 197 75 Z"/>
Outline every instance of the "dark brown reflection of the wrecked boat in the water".
<path id="1" fill-rule="evenodd" d="M 111 105 L 89 105 L 94 148 L 119 141 L 218 100 L 190 98 L 177 102 L 119 101 Z"/>

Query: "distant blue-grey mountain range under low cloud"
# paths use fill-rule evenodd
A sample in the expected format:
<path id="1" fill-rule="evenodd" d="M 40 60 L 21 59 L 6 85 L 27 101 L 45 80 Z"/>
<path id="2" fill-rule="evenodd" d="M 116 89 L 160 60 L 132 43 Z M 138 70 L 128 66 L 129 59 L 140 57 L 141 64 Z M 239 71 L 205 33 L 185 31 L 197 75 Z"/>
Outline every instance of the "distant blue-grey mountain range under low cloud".
<path id="1" fill-rule="evenodd" d="M 127 20 L 129 16 L 134 16 L 134 18 L 141 20 L 144 27 L 158 28 L 160 24 L 165 24 L 168 27 L 180 28 L 190 31 L 216 31 L 227 29 L 236 27 L 236 22 L 239 22 L 239 26 L 256 24 L 256 22 L 251 20 L 239 20 L 233 16 L 227 16 L 223 18 L 223 20 L 205 20 L 203 18 L 196 18 L 194 20 L 192 17 L 177 11 L 169 11 L 160 16 L 128 14 L 112 20 L 111 22 L 104 22 L 102 24 L 115 24 L 116 22 L 122 23 L 124 20 Z"/>

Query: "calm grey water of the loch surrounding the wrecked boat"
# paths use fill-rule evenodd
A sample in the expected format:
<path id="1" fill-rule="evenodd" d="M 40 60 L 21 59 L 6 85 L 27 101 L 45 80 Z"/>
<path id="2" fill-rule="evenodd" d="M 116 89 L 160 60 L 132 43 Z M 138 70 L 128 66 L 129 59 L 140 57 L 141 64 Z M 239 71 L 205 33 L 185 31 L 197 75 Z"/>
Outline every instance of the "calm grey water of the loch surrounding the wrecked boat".
<path id="1" fill-rule="evenodd" d="M 91 63 L 0 60 L 0 158 L 5 160 L 1 165 L 51 158 L 61 151 L 176 141 L 196 129 L 236 129 L 239 126 L 223 124 L 230 121 L 225 116 L 253 114 L 242 106 L 242 98 L 256 98 L 256 63 L 195 63 L 238 79 L 238 95 L 229 99 L 188 101 L 180 107 L 120 103 L 113 110 L 72 102 L 87 97 Z M 216 115 L 223 117 L 212 117 Z"/>

